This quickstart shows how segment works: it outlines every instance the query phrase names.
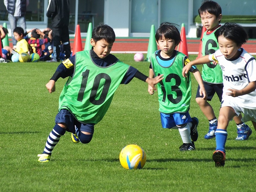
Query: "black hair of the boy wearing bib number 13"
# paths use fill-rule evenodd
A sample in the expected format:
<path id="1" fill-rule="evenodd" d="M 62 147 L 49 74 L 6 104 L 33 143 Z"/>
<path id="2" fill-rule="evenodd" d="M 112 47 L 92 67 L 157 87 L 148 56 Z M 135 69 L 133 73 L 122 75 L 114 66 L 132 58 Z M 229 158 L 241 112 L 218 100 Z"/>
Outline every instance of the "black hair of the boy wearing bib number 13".
<path id="1" fill-rule="evenodd" d="M 160 27 L 156 31 L 156 40 L 158 41 L 161 38 L 172 39 L 175 41 L 175 44 L 179 44 L 181 41 L 180 32 L 175 25 L 176 24 L 169 22 L 161 23 Z"/>

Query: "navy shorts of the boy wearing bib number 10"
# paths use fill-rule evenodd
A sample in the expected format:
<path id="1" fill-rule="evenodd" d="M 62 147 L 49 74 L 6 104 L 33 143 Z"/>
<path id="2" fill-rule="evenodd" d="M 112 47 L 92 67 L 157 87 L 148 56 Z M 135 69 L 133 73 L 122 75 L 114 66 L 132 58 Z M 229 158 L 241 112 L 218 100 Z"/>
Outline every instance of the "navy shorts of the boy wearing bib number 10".
<path id="1" fill-rule="evenodd" d="M 72 132 L 74 134 L 76 133 L 75 126 L 80 131 L 88 132 L 91 134 L 94 133 L 94 124 L 93 123 L 83 124 L 83 123 L 79 122 L 78 120 L 76 120 L 76 118 L 74 118 L 73 114 L 67 109 L 62 109 L 62 110 L 60 110 L 60 112 L 58 112 L 58 114 L 56 115 L 56 118 L 55 118 L 55 123 L 56 124 L 57 123 L 66 124 L 67 131 Z"/>

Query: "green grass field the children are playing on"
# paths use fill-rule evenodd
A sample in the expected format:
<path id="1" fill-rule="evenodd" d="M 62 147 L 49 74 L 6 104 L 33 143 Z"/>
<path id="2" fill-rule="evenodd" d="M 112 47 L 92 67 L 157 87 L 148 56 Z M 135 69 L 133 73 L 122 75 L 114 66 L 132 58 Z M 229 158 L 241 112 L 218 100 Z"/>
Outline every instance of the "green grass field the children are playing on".
<path id="1" fill-rule="evenodd" d="M 115 54 L 120 60 L 148 74 L 149 62 L 134 62 L 133 54 Z M 196 56 L 190 56 L 193 60 Z M 66 80 L 56 82 L 49 94 L 45 84 L 58 63 L 0 64 L 0 191 L 255 191 L 256 135 L 236 141 L 236 125 L 230 122 L 226 164 L 215 168 L 215 139 L 205 140 L 208 121 L 195 102 L 197 82 L 192 75 L 190 115 L 199 119 L 196 150 L 180 152 L 178 130 L 161 127 L 157 94 L 138 79 L 120 85 L 103 120 L 95 126 L 89 144 L 74 144 L 67 132 L 54 148 L 51 161 L 39 163 L 46 139 L 58 112 L 58 97 Z M 200 67 L 199 67 L 200 68 Z M 216 115 L 217 97 L 210 102 Z M 252 127 L 252 123 L 248 122 Z M 119 153 L 138 144 L 147 156 L 141 170 L 125 170 Z"/>

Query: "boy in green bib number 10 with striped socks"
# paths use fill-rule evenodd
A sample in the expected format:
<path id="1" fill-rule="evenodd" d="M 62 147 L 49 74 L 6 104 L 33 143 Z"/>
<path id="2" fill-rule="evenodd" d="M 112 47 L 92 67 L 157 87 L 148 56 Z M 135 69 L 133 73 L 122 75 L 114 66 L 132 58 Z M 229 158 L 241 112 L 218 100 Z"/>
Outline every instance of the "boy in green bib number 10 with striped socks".
<path id="1" fill-rule="evenodd" d="M 44 151 L 38 154 L 39 162 L 50 160 L 52 150 L 66 131 L 71 132 L 74 143 L 89 143 L 94 125 L 106 114 L 120 84 L 128 84 L 136 77 L 154 87 L 163 79 L 163 75 L 148 78 L 110 54 L 115 38 L 110 26 L 96 26 L 90 40 L 92 49 L 77 52 L 64 60 L 46 84 L 52 93 L 58 78 L 69 77 L 60 94 L 56 124 L 47 138 Z"/>

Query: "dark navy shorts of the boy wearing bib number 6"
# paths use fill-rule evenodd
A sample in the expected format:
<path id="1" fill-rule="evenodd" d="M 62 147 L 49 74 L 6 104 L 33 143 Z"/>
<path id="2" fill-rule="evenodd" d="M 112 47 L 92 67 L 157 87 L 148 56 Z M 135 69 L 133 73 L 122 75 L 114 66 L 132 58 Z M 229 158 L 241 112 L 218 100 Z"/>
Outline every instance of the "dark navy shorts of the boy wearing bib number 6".
<path id="1" fill-rule="evenodd" d="M 204 82 L 204 88 L 205 88 L 205 91 L 208 95 L 208 98 L 207 98 L 208 101 L 211 101 L 214 94 L 216 93 L 218 95 L 218 98 L 219 98 L 220 102 L 221 102 L 222 93 L 223 93 L 223 84 L 210 84 L 210 83 Z M 198 86 L 198 88 L 197 88 L 196 98 L 198 98 L 198 97 L 202 98 L 203 97 L 203 96 L 200 96 L 199 89 L 200 89 L 200 86 Z"/>

